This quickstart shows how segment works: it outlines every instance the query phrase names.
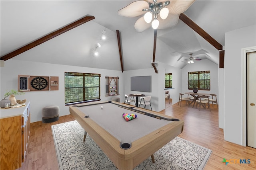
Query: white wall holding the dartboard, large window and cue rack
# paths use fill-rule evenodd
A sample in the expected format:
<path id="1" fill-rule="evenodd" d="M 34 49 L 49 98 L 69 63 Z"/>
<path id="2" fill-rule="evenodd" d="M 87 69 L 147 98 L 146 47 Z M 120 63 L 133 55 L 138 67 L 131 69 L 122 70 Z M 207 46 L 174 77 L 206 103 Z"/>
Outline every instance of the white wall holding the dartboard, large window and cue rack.
<path id="1" fill-rule="evenodd" d="M 25 92 L 24 95 L 16 96 L 17 100 L 27 99 L 31 102 L 31 122 L 42 120 L 42 108 L 50 105 L 58 105 L 60 107 L 60 116 L 68 115 L 69 107 L 65 106 L 64 96 L 64 72 L 86 72 L 86 73 L 99 73 L 100 78 L 100 99 L 101 101 L 109 101 L 113 96 L 105 97 L 106 94 L 106 81 L 105 76 L 117 77 L 120 81 L 120 100 L 124 100 L 124 77 L 121 71 L 104 70 L 96 68 L 86 68 L 77 66 L 66 66 L 58 64 L 35 63 L 27 61 L 19 61 L 9 59 L 5 61 L 5 66 L 0 68 L 1 82 L 0 92 L 2 100 L 6 90 L 18 90 L 18 74 L 30 76 L 58 76 L 59 77 L 59 90 L 58 91 L 31 91 Z"/>

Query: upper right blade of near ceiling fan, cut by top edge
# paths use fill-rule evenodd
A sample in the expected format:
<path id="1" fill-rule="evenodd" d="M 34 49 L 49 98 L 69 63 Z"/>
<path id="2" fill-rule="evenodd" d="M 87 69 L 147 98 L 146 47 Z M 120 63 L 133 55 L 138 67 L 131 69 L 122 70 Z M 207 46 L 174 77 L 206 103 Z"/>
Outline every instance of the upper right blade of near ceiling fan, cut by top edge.
<path id="1" fill-rule="evenodd" d="M 170 4 L 166 6 L 169 9 L 169 14 L 181 14 L 190 7 L 195 0 L 171 0 Z"/>

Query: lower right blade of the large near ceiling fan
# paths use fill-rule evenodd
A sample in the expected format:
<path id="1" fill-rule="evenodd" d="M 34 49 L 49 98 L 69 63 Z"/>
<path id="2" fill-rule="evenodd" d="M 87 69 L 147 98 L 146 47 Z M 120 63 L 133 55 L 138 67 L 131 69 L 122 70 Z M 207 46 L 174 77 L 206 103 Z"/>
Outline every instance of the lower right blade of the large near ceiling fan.
<path id="1" fill-rule="evenodd" d="M 161 17 L 158 17 L 157 19 L 159 20 L 159 26 L 157 29 L 165 29 L 165 28 L 171 28 L 177 25 L 179 21 L 179 16 L 178 15 L 168 15 L 168 17 L 163 20 Z"/>

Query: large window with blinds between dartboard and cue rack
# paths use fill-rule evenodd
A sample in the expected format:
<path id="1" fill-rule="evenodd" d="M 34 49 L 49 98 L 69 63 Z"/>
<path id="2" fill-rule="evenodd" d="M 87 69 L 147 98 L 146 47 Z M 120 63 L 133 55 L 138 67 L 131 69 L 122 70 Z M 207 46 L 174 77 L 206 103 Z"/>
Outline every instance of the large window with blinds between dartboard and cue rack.
<path id="1" fill-rule="evenodd" d="M 100 99 L 100 74 L 65 72 L 65 104 Z"/>

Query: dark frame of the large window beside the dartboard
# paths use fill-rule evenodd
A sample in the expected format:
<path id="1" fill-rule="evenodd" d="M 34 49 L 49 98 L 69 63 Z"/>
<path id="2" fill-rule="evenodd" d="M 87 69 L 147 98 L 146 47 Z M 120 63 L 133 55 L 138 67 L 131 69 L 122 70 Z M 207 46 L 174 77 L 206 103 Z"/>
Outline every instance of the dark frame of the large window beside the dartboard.
<path id="1" fill-rule="evenodd" d="M 76 82 L 73 82 L 74 86 L 72 87 L 66 87 L 66 76 L 82 76 L 82 86 L 76 86 Z M 98 78 L 98 86 L 86 86 L 86 77 L 97 77 Z M 65 96 L 65 106 L 73 105 L 73 104 L 81 104 L 81 103 L 88 103 L 88 102 L 95 102 L 100 101 L 100 77 L 101 74 L 95 74 L 95 73 L 82 73 L 82 72 L 64 72 L 64 96 Z M 82 101 L 75 101 L 75 102 L 67 102 L 66 103 L 66 89 L 74 89 L 74 88 L 82 88 Z M 88 88 L 98 88 L 98 98 L 95 99 L 89 99 L 86 100 L 86 89 Z"/>

